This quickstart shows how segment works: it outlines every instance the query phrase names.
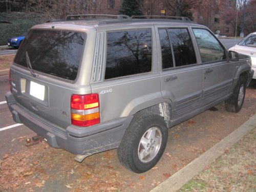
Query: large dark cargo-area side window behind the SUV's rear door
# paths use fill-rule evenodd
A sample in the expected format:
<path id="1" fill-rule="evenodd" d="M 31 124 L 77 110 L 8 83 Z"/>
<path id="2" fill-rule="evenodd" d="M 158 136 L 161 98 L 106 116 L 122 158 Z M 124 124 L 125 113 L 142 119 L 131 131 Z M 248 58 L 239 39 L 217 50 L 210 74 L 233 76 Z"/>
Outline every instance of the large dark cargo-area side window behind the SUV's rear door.
<path id="1" fill-rule="evenodd" d="M 151 71 L 151 30 L 108 33 L 105 79 Z"/>

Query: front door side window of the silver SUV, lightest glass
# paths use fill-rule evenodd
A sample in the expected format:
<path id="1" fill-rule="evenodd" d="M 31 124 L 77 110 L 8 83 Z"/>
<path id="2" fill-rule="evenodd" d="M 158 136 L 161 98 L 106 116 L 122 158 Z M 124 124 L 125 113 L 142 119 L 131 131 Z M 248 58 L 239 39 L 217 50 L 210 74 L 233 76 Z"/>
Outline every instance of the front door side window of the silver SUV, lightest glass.
<path id="1" fill-rule="evenodd" d="M 224 60 L 225 51 L 219 41 L 205 29 L 193 29 L 201 54 L 202 62 Z"/>

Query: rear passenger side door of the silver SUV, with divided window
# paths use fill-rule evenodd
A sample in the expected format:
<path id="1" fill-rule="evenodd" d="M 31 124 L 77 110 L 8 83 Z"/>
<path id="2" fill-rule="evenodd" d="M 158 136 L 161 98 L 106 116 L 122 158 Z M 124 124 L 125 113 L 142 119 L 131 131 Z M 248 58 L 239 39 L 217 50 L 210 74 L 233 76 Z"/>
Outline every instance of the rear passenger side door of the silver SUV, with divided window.
<path id="1" fill-rule="evenodd" d="M 172 119 L 184 118 L 200 105 L 202 67 L 187 27 L 158 28 L 161 92 L 172 100 Z M 159 51 L 160 52 L 160 51 Z"/>

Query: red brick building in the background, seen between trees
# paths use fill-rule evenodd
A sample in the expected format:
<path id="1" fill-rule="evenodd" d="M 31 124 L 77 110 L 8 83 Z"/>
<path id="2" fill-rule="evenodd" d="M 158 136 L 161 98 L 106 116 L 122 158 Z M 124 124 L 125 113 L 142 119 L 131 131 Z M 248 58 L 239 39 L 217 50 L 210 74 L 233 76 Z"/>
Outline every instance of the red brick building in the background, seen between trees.
<path id="1" fill-rule="evenodd" d="M 90 0 L 87 12 L 91 14 L 118 14 L 122 0 Z M 190 9 L 194 21 L 205 25 L 214 33 L 220 35 L 233 36 L 234 29 L 229 26 L 225 19 L 225 12 L 229 9 L 236 9 L 236 0 L 205 0 L 191 1 L 193 8 Z M 175 13 L 166 6 L 165 1 L 143 0 L 140 7 L 144 15 L 169 15 Z"/>

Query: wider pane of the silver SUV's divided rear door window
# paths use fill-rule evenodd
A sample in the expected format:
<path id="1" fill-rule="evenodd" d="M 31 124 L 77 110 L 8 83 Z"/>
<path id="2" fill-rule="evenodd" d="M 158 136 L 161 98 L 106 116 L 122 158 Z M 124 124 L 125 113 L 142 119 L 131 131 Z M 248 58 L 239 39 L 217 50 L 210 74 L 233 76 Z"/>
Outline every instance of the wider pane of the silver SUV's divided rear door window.
<path id="1" fill-rule="evenodd" d="M 168 29 L 174 50 L 175 66 L 186 66 L 197 62 L 194 47 L 187 29 Z"/>

